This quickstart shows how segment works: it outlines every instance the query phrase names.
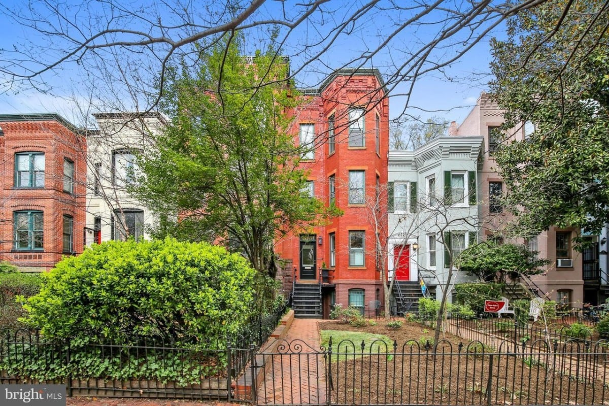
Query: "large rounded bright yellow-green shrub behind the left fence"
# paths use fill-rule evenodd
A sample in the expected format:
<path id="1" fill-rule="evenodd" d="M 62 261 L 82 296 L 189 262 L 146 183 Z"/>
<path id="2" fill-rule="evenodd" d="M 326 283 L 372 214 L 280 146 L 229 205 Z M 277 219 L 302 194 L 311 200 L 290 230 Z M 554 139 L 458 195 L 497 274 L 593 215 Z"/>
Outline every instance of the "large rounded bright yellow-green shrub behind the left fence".
<path id="1" fill-rule="evenodd" d="M 44 275 L 24 321 L 73 345 L 219 345 L 252 313 L 255 275 L 243 257 L 206 243 L 109 241 Z"/>

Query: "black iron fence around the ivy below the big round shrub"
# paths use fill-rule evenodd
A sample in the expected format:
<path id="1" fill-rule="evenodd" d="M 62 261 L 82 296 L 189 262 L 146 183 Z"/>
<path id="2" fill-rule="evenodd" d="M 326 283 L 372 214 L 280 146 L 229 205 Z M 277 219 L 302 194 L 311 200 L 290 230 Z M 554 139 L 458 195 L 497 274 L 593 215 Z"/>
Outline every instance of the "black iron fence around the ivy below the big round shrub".
<path id="1" fill-rule="evenodd" d="M 0 383 L 64 383 L 68 396 L 231 401 L 236 380 L 253 373 L 256 349 L 270 337 L 285 311 L 282 306 L 252 318 L 220 345 L 57 342 L 37 332 L 7 333 L 0 339 Z"/>

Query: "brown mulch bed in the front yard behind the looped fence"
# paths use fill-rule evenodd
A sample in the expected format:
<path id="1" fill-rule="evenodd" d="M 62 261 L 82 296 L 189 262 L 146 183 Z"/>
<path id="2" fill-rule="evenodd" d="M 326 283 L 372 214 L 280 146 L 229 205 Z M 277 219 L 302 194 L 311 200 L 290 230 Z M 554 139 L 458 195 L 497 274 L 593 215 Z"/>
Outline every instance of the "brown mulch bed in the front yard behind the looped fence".
<path id="1" fill-rule="evenodd" d="M 571 366 L 555 365 L 549 354 L 532 355 L 525 362 L 515 355 L 459 352 L 465 340 L 441 335 L 438 353 L 405 345 L 432 329 L 404 321 L 400 329 L 377 320 L 376 326 L 352 327 L 337 321 L 320 324 L 322 330 L 362 331 L 384 334 L 398 343 L 395 355 L 373 354 L 332 360 L 333 401 L 338 404 L 586 404 L 609 405 L 609 388 L 594 376 L 573 376 Z M 336 350 L 335 350 L 336 351 Z M 493 364 L 491 365 L 491 362 Z M 556 372 L 557 369 L 562 374 Z M 602 376 L 600 377 L 602 378 Z M 607 376 L 605 376 L 607 378 Z"/>

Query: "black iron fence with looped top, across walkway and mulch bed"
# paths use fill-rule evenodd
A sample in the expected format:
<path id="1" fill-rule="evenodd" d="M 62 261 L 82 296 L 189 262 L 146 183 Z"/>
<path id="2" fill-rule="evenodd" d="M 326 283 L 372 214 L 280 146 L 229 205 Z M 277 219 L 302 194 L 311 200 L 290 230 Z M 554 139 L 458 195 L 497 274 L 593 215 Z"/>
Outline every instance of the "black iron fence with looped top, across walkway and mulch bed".
<path id="1" fill-rule="evenodd" d="M 267 405 L 606 405 L 607 347 L 546 341 L 496 349 L 408 340 L 354 343 L 328 349 L 300 341 L 269 353 L 266 383 L 256 402 Z"/>

